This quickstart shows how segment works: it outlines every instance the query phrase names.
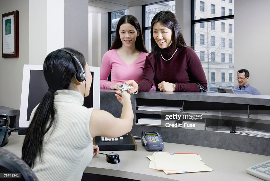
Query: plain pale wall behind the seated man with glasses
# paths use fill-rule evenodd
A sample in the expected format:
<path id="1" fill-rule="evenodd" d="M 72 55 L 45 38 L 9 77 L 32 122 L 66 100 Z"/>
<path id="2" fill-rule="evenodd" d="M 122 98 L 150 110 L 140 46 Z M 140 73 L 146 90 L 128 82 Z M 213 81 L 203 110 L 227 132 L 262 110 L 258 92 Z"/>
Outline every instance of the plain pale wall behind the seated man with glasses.
<path id="1" fill-rule="evenodd" d="M 234 3 L 234 72 L 247 69 L 249 84 L 262 95 L 270 95 L 270 1 L 237 0 Z"/>

